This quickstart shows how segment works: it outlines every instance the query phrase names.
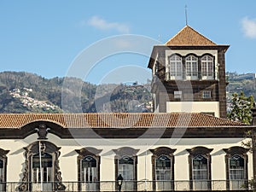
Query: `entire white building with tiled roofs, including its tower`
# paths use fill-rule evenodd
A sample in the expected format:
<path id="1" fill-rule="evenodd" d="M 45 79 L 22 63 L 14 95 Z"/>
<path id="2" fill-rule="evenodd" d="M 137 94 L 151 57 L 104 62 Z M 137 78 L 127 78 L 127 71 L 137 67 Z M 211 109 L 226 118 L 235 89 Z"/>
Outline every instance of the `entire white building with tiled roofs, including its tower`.
<path id="1" fill-rule="evenodd" d="M 224 119 L 226 49 L 190 26 L 154 46 L 156 113 L 0 114 L 0 191 L 250 191 L 256 108 Z"/>

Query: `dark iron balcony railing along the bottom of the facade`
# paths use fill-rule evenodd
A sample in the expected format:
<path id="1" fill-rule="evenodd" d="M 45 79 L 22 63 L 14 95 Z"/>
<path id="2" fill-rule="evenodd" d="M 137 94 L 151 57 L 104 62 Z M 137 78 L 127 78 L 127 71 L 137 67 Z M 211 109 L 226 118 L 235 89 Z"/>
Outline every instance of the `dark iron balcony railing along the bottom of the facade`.
<path id="1" fill-rule="evenodd" d="M 65 191 L 117 191 L 115 181 L 101 182 L 61 182 L 65 185 Z M 121 191 L 253 191 L 248 186 L 247 180 L 212 180 L 212 181 L 124 181 Z M 56 183 L 25 183 L 26 191 L 58 191 L 53 188 Z M 19 191 L 20 183 L 0 183 L 0 191 Z M 43 188 L 43 190 L 42 190 Z M 229 189 L 228 189 L 229 188 Z"/>

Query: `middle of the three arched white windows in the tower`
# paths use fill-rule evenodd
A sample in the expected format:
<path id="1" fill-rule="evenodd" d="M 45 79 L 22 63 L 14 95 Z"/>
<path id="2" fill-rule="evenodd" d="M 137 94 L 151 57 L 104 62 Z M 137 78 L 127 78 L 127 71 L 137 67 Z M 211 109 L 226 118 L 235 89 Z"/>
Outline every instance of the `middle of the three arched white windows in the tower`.
<path id="1" fill-rule="evenodd" d="M 198 59 L 194 55 L 186 57 L 186 79 L 198 79 Z"/>

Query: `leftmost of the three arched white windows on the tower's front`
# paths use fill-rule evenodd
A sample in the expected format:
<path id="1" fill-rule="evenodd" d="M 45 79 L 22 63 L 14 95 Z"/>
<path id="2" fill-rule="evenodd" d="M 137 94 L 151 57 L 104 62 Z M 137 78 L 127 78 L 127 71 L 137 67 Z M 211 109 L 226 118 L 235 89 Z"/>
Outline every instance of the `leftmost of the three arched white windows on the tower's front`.
<path id="1" fill-rule="evenodd" d="M 172 55 L 169 58 L 169 65 L 170 65 L 170 79 L 183 79 L 182 57 L 180 57 L 179 55 Z M 167 70 L 166 72 L 169 73 L 169 71 Z"/>

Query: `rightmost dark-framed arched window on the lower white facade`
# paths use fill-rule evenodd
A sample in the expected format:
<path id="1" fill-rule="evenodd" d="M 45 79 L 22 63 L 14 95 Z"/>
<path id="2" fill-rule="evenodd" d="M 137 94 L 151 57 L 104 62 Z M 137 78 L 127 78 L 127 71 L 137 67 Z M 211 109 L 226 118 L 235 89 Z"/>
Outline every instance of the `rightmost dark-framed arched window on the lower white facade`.
<path id="1" fill-rule="evenodd" d="M 227 189 L 241 189 L 247 183 L 248 148 L 224 148 L 226 152 Z"/>

